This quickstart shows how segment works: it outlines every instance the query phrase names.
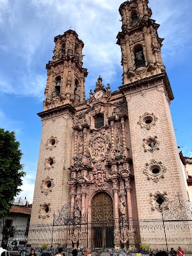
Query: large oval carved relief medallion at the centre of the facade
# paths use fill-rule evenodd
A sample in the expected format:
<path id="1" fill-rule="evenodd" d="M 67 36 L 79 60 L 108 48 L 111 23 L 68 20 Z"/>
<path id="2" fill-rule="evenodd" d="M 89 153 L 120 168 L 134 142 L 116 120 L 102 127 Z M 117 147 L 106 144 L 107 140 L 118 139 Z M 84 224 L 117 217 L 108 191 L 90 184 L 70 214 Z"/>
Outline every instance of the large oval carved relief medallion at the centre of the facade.
<path id="1" fill-rule="evenodd" d="M 108 159 L 109 148 L 111 147 L 111 143 L 107 135 L 108 132 L 109 131 L 102 130 L 100 132 L 94 131 L 91 134 L 88 148 L 90 150 L 92 161 L 99 162 Z"/>

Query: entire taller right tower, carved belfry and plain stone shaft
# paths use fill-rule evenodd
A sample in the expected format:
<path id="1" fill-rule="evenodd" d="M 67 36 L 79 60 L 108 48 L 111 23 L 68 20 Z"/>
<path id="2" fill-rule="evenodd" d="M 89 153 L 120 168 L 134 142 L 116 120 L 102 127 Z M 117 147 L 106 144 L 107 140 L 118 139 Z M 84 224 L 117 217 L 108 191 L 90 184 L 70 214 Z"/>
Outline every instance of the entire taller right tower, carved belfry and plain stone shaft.
<path id="1" fill-rule="evenodd" d="M 124 70 L 119 89 L 127 100 L 138 218 L 159 218 L 175 193 L 188 198 L 170 113 L 174 97 L 161 58 L 163 39 L 148 0 L 125 1 L 119 12 Z M 151 207 L 143 209 L 143 202 Z"/>

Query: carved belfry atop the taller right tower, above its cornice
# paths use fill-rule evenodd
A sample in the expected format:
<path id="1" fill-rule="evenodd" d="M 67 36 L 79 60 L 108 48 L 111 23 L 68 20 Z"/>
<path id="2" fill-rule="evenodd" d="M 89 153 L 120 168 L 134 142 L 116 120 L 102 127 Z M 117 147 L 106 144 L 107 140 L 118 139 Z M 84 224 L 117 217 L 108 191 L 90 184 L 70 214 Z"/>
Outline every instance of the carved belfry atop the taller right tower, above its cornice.
<path id="1" fill-rule="evenodd" d="M 163 39 L 157 34 L 159 24 L 150 19 L 148 0 L 125 1 L 119 12 L 122 31 L 117 35 L 117 44 L 122 50 L 123 84 L 164 72 Z"/>

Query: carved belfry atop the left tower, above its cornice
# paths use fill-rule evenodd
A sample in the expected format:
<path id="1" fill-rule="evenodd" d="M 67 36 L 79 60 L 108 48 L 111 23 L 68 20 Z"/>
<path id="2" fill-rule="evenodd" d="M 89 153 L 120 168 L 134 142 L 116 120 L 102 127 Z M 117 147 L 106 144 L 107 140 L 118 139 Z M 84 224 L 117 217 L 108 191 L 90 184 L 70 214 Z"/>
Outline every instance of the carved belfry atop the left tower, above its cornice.
<path id="1" fill-rule="evenodd" d="M 84 81 L 88 72 L 82 67 L 83 42 L 71 29 L 56 36 L 54 42 L 52 61 L 46 65 L 44 111 L 63 104 L 75 106 L 85 99 Z"/>

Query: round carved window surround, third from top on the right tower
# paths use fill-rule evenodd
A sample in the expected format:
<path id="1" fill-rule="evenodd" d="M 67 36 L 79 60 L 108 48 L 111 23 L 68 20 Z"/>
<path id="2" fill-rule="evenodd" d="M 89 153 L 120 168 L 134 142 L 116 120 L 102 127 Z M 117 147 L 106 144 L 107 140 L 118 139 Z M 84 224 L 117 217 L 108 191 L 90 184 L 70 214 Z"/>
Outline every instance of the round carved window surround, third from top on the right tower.
<path id="1" fill-rule="evenodd" d="M 146 168 L 143 170 L 143 173 L 147 175 L 147 179 L 152 179 L 154 182 L 158 182 L 159 179 L 164 178 L 165 172 L 166 168 L 163 166 L 163 164 L 154 159 L 152 159 L 150 163 L 147 163 Z"/>

